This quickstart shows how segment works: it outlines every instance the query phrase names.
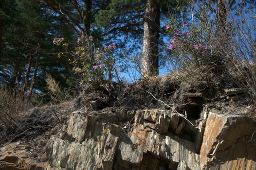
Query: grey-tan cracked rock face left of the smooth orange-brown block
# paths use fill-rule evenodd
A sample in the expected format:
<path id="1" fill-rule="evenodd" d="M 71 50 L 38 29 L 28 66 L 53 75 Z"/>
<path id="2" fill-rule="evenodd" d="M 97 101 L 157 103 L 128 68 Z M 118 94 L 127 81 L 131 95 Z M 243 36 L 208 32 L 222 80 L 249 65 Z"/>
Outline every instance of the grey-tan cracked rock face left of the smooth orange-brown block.
<path id="1" fill-rule="evenodd" d="M 139 110 L 128 121 L 129 114 L 115 124 L 108 113 L 85 117 L 74 112 L 65 134 L 47 144 L 50 164 L 75 170 L 200 169 L 196 144 L 178 136 L 185 119 L 165 110 Z M 196 135 L 198 129 L 190 128 Z"/>

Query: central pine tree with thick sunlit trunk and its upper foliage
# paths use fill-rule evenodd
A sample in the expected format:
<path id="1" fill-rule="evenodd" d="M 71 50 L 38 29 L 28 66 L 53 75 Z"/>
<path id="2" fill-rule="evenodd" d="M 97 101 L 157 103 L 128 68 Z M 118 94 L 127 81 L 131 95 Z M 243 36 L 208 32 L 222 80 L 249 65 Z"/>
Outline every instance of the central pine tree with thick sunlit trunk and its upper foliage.
<path id="1" fill-rule="evenodd" d="M 130 39 L 143 39 L 142 76 L 158 75 L 160 18 L 166 17 L 176 4 L 175 0 L 110 0 L 108 6 L 96 14 L 95 25 L 104 27 L 109 39 L 122 37 L 118 40 L 121 46 Z"/>

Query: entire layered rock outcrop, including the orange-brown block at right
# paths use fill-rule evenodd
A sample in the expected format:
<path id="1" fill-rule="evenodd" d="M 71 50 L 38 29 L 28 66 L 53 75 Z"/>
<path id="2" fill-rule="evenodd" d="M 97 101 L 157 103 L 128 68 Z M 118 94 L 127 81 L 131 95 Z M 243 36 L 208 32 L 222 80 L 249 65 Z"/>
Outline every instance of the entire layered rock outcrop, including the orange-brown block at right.
<path id="1" fill-rule="evenodd" d="M 48 170 L 253 170 L 255 130 L 249 117 L 213 112 L 199 127 L 169 110 L 73 112 L 47 144 Z"/>

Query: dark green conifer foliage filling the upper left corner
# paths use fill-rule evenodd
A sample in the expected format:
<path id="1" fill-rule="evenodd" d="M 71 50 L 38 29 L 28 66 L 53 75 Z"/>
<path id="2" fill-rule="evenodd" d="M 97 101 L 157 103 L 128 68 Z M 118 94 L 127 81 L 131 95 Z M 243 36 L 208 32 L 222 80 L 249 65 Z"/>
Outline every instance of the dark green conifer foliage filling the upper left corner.
<path id="1" fill-rule="evenodd" d="M 0 32 L 3 42 L 0 82 L 23 88 L 24 95 L 28 95 L 30 87 L 32 92 L 43 94 L 47 93 L 47 72 L 54 75 L 60 86 L 74 87 L 68 62 L 71 55 L 56 59 L 60 48 L 52 44 L 54 35 L 73 38 L 74 32 L 64 19 L 30 0 L 5 1 L 1 11 L 7 17 Z"/>

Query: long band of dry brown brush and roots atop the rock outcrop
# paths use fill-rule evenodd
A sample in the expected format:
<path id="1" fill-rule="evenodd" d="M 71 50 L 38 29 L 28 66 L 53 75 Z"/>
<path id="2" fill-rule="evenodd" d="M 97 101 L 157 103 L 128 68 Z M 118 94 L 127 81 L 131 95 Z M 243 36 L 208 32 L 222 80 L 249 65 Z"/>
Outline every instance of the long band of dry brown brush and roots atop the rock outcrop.
<path id="1" fill-rule="evenodd" d="M 236 72 L 233 73 L 238 75 Z M 24 100 L 22 101 L 21 97 L 19 99 L 22 102 L 16 102 L 19 104 L 17 106 L 14 102 L 15 98 L 5 97 L 1 100 L 8 99 L 9 104 L 16 107 L 5 105 L 5 109 L 1 108 L 5 112 L 1 112 L 0 144 L 21 140 L 34 141 L 35 145 L 43 147 L 47 138 L 57 134 L 66 124 L 73 110 L 83 110 L 86 113 L 109 110 L 112 114 L 117 114 L 118 108 L 123 107 L 133 110 L 171 109 L 193 124 L 202 119 L 201 112 L 204 107 L 215 108 L 223 113 L 232 113 L 236 110 L 239 114 L 255 117 L 255 102 L 252 96 L 234 81 L 234 74 L 226 72 L 220 76 L 203 75 L 208 81 L 201 79 L 198 73 L 167 74 L 143 79 L 133 84 L 120 82 L 99 85 L 97 88 L 88 85 L 83 87 L 83 92 L 72 102 L 35 107 L 26 112 L 27 107 L 22 104 Z M 185 76 L 191 79 L 188 80 Z M 238 90 L 227 92 L 225 89 Z M 23 111 L 23 114 L 20 114 L 17 107 L 22 108 L 20 111 Z M 45 140 L 38 144 L 37 139 L 40 136 Z"/>

